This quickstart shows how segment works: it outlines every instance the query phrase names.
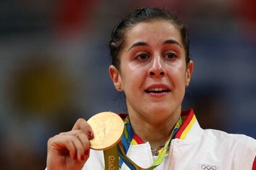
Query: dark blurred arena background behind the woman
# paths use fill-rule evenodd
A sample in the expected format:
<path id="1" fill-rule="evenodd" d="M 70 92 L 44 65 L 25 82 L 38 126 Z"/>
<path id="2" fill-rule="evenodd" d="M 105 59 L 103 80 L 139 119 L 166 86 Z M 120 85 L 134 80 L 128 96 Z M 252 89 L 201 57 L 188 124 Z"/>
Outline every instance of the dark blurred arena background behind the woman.
<path id="1" fill-rule="evenodd" d="M 49 137 L 126 111 L 108 75 L 109 34 L 139 7 L 189 25 L 195 68 L 183 108 L 203 128 L 256 138 L 256 1 L 0 1 L 1 169 L 44 169 Z"/>

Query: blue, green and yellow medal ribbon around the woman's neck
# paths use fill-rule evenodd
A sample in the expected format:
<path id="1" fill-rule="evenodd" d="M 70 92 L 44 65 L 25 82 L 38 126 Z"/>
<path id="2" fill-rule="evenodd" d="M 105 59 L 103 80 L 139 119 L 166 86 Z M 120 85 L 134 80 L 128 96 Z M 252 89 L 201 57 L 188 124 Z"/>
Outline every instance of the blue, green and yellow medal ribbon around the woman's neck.
<path id="1" fill-rule="evenodd" d="M 171 143 L 171 139 L 174 138 L 175 134 L 177 133 L 179 127 L 181 127 L 182 119 L 181 117 L 177 121 L 176 125 L 174 126 L 173 131 L 171 132 L 171 136 L 165 143 L 163 150 L 160 151 L 158 158 L 151 164 L 151 166 L 147 169 L 151 170 L 156 168 L 156 166 L 163 163 L 164 155 L 168 152 L 169 145 Z M 137 164 L 135 164 L 130 158 L 126 156 L 130 144 L 132 143 L 132 139 L 134 139 L 134 131 L 132 130 L 132 126 L 129 121 L 129 116 L 127 115 L 126 119 L 124 119 L 124 134 L 122 136 L 121 141 L 117 145 L 118 155 L 119 155 L 119 168 L 121 168 L 122 164 L 125 163 L 131 170 L 140 170 L 145 168 L 140 168 Z"/>

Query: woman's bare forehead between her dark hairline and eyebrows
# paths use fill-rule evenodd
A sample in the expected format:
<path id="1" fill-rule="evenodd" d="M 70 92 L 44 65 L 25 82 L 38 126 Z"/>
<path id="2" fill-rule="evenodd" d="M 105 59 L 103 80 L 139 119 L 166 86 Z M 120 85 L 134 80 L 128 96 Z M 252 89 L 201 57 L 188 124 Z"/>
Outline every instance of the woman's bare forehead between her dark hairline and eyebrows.
<path id="1" fill-rule="evenodd" d="M 171 22 L 165 20 L 141 22 L 127 30 L 124 49 L 134 42 L 142 41 L 154 45 L 162 44 L 168 39 L 173 39 L 182 44 L 181 34 Z"/>

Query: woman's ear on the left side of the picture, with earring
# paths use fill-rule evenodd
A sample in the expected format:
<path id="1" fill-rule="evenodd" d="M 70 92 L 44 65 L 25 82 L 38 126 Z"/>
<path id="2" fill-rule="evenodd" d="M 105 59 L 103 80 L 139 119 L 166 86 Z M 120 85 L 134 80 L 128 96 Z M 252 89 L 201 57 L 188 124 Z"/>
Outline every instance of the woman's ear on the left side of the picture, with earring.
<path id="1" fill-rule="evenodd" d="M 114 65 L 110 65 L 108 68 L 109 71 L 109 76 L 113 81 L 114 87 L 116 88 L 117 91 L 122 91 L 122 79 L 119 74 L 119 71 L 117 70 Z"/>

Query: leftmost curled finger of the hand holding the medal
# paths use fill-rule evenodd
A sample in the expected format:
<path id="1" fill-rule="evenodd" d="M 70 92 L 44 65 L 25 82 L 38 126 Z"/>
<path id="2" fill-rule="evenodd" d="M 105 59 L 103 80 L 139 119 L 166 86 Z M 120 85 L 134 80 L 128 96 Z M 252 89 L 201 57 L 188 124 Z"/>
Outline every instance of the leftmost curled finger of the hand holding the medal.
<path id="1" fill-rule="evenodd" d="M 72 159 L 75 160 L 76 148 L 73 144 L 72 140 L 69 137 L 63 136 L 54 136 L 48 140 L 48 150 L 56 150 L 61 152 L 63 149 L 67 149 L 69 151 L 69 155 Z"/>

